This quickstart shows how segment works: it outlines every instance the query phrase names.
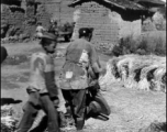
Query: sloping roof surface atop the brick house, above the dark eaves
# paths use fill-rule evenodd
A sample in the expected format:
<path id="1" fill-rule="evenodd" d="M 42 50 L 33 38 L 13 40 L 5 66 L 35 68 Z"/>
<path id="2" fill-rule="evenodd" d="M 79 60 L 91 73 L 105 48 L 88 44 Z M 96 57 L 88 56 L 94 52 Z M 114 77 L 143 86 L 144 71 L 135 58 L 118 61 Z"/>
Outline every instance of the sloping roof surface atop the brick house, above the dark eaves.
<path id="1" fill-rule="evenodd" d="M 92 1 L 92 0 L 74 0 L 69 7 L 75 7 L 76 4 L 80 3 L 80 2 L 88 2 L 88 1 Z M 145 10 L 145 8 L 136 2 L 130 1 L 130 0 L 93 0 L 93 1 L 98 1 L 98 2 L 105 2 L 109 3 L 111 6 L 121 8 L 121 9 L 130 9 L 130 10 Z"/>

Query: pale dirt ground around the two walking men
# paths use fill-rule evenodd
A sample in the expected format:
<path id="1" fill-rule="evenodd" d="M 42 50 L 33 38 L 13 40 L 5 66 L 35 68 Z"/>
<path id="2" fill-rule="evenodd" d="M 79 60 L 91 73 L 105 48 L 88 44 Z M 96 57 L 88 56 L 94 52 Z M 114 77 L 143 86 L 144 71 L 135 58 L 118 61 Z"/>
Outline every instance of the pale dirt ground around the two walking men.
<path id="1" fill-rule="evenodd" d="M 67 43 L 60 43 L 58 51 L 65 51 Z M 40 51 L 37 42 L 5 44 L 9 56 L 30 56 Z M 102 65 L 110 58 L 100 55 Z M 1 66 L 1 103 L 12 103 L 22 116 L 22 107 L 27 100 L 26 87 L 29 85 L 29 61 L 24 63 L 4 63 Z M 56 58 L 56 73 L 59 72 L 64 58 Z M 154 120 L 166 121 L 166 94 L 153 91 L 138 91 L 125 89 L 122 84 L 111 85 L 107 91 L 102 91 L 111 107 L 109 121 L 89 119 L 86 121 L 85 132 L 138 132 L 141 128 L 147 127 Z M 70 130 L 75 132 L 75 130 Z"/>

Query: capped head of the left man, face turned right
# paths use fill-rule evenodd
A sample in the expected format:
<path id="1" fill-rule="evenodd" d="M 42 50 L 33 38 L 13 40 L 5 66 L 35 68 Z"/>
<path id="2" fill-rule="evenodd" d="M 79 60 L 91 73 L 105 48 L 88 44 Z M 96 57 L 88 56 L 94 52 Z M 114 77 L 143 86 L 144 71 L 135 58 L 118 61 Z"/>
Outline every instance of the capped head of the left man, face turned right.
<path id="1" fill-rule="evenodd" d="M 57 37 L 52 33 L 44 33 L 40 44 L 46 53 L 53 54 L 57 46 Z"/>

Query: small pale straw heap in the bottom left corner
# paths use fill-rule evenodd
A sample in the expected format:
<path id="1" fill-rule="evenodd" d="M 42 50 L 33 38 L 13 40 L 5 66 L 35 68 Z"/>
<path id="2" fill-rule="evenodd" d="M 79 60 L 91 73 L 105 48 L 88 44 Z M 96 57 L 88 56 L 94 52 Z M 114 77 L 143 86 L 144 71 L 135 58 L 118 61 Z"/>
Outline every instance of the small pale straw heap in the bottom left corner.
<path id="1" fill-rule="evenodd" d="M 18 121 L 12 106 L 1 106 L 1 132 L 14 132 Z"/>

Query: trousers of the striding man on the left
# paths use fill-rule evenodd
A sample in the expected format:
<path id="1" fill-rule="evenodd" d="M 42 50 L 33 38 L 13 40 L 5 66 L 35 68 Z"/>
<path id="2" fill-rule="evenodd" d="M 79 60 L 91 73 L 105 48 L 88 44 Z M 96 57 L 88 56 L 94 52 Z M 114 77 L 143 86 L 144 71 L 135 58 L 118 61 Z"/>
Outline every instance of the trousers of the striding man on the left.
<path id="1" fill-rule="evenodd" d="M 40 95 L 37 91 L 30 94 L 30 99 L 23 108 L 24 113 L 18 127 L 18 132 L 27 132 L 41 109 L 44 110 L 47 116 L 48 132 L 60 132 L 58 127 L 58 113 L 53 101 L 49 99 L 48 95 Z"/>

